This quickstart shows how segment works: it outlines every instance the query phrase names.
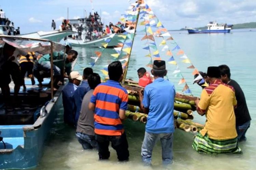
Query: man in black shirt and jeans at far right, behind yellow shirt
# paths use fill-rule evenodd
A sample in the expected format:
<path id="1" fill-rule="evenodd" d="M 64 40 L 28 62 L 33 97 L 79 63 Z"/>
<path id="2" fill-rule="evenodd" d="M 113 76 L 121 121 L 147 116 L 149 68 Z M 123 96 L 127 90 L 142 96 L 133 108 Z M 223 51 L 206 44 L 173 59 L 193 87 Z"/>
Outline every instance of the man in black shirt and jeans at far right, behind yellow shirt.
<path id="1" fill-rule="evenodd" d="M 246 140 L 245 133 L 248 128 L 250 128 L 252 120 L 248 111 L 244 92 L 236 81 L 230 79 L 230 69 L 227 65 L 220 65 L 219 68 L 221 69 L 222 82 L 232 86 L 235 90 L 237 108 L 234 109 L 234 112 L 236 115 L 237 139 L 238 141 L 244 141 Z"/>

